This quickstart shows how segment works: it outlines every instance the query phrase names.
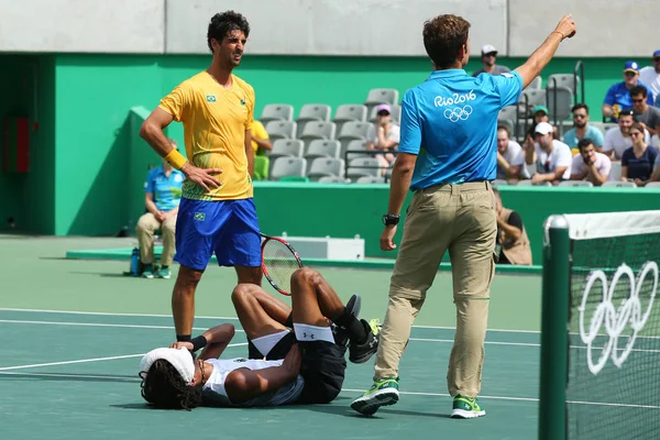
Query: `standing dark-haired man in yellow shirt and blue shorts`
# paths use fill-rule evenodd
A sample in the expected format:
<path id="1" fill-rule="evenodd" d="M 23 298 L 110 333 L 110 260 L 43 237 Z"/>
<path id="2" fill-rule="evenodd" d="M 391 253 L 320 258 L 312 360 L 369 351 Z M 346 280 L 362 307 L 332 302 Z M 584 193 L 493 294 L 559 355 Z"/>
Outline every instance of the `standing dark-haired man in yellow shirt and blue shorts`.
<path id="1" fill-rule="evenodd" d="M 190 340 L 195 290 L 213 252 L 239 283 L 261 284 L 261 237 L 252 199 L 254 89 L 232 74 L 241 64 L 250 24 L 240 13 L 211 18 L 208 69 L 179 84 L 144 121 L 140 135 L 185 176 L 176 223 L 180 270 L 172 294 L 178 341 Z M 163 130 L 183 122 L 186 160 Z"/>

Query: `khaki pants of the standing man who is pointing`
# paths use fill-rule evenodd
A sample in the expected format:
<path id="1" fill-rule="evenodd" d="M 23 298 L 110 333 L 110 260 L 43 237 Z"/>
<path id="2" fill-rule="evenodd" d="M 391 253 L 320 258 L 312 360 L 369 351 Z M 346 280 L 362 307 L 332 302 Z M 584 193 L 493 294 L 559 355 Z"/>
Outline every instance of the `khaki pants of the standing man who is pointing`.
<path id="1" fill-rule="evenodd" d="M 447 384 L 452 396 L 481 391 L 497 220 L 490 183 L 438 185 L 410 202 L 389 285 L 375 376 L 398 377 L 410 328 L 449 250 L 457 307 L 457 333 Z"/>

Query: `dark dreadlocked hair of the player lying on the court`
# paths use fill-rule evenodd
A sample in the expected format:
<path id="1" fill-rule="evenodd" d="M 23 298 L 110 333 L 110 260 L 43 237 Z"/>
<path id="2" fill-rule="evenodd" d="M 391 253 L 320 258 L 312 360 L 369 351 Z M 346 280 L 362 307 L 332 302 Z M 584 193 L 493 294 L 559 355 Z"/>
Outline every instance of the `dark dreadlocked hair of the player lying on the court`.
<path id="1" fill-rule="evenodd" d="M 147 372 L 140 372 L 142 397 L 156 408 L 191 410 L 201 405 L 204 384 L 190 386 L 169 362 L 158 359 Z"/>

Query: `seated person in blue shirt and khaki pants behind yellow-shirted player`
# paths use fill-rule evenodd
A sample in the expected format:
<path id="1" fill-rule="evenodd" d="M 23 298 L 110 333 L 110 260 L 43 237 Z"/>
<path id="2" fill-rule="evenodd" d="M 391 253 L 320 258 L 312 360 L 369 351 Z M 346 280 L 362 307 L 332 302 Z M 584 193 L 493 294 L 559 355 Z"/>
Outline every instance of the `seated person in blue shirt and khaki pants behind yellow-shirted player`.
<path id="1" fill-rule="evenodd" d="M 176 142 L 169 140 L 172 146 L 177 148 Z M 177 148 L 178 150 L 178 148 Z M 144 265 L 142 276 L 154 277 L 154 232 L 161 230 L 163 234 L 163 254 L 161 268 L 156 276 L 169 278 L 169 266 L 175 252 L 176 215 L 182 200 L 184 173 L 174 169 L 168 162 L 163 161 L 148 170 L 144 183 L 144 205 L 146 212 L 138 220 L 135 233 L 140 243 L 140 261 Z"/>

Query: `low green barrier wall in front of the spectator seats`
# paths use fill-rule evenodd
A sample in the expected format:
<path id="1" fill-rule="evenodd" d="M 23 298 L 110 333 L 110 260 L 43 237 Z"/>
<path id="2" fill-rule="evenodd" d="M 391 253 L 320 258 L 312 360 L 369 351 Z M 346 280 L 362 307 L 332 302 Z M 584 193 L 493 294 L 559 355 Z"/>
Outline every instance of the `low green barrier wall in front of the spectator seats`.
<path id="1" fill-rule="evenodd" d="M 254 184 L 260 227 L 265 234 L 353 238 L 365 240 L 365 255 L 395 257 L 383 252 L 378 238 L 387 209 L 387 185 L 268 183 Z M 543 221 L 558 213 L 637 211 L 660 209 L 660 189 L 499 187 L 503 205 L 522 218 L 534 264 L 541 264 Z M 411 195 L 406 199 L 405 208 Z M 395 242 L 400 243 L 403 228 Z M 304 255 L 301 255 L 304 257 Z M 446 255 L 448 260 L 448 255 Z"/>

